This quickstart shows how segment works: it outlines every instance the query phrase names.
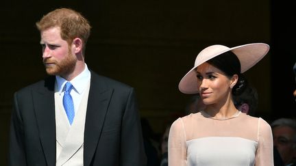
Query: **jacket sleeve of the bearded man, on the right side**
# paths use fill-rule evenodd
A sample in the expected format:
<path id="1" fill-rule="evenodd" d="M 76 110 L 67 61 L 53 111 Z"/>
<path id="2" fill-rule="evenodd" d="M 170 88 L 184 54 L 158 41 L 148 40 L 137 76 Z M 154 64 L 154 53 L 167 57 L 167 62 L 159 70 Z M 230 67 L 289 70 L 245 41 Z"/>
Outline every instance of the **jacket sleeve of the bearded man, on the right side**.
<path id="1" fill-rule="evenodd" d="M 125 113 L 121 126 L 121 165 L 146 165 L 140 115 L 134 89 L 131 88 L 127 98 Z"/>

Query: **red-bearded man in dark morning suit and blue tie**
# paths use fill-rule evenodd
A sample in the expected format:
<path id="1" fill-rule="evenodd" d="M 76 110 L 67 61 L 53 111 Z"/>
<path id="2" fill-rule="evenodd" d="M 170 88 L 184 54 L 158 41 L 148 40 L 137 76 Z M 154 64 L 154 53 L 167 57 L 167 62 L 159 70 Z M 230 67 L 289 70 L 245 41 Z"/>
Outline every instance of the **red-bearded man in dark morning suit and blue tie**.
<path id="1" fill-rule="evenodd" d="M 47 79 L 14 94 L 9 165 L 145 165 L 134 89 L 88 70 L 88 20 L 61 8 L 36 23 Z"/>

